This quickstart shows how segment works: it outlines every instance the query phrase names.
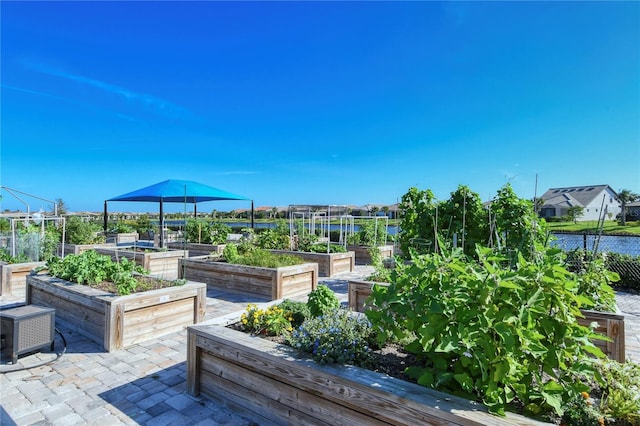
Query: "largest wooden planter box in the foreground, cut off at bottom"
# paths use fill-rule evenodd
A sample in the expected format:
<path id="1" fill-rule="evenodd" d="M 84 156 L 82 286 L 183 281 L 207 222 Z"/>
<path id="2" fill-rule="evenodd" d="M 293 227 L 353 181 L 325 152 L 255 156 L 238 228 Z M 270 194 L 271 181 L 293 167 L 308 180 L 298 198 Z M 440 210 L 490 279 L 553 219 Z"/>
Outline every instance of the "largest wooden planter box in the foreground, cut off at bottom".
<path id="1" fill-rule="evenodd" d="M 191 326 L 187 392 L 261 425 L 542 425 L 351 366 L 298 359 L 284 345 L 223 326 Z"/>

